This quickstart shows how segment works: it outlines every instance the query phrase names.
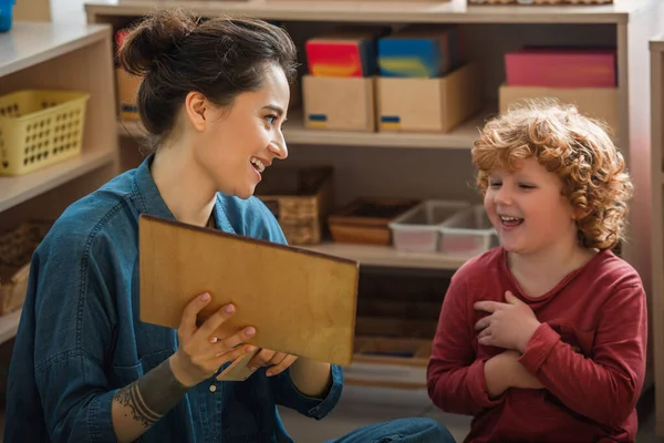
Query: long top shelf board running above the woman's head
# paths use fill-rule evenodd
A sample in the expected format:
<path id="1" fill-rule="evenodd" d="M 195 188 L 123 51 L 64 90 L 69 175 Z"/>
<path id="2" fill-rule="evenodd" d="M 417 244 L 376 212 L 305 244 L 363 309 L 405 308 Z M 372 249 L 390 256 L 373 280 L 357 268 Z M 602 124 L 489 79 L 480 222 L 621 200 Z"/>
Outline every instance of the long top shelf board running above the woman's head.
<path id="1" fill-rule="evenodd" d="M 267 20 L 426 23 L 626 23 L 631 13 L 657 0 L 620 0 L 605 6 L 467 6 L 466 0 L 248 0 L 186 2 L 200 16 L 251 16 Z M 645 3 L 645 6 L 644 6 Z M 649 4 L 650 3 L 650 4 Z M 174 0 L 95 0 L 87 17 L 141 17 L 156 8 L 180 7 Z"/>

